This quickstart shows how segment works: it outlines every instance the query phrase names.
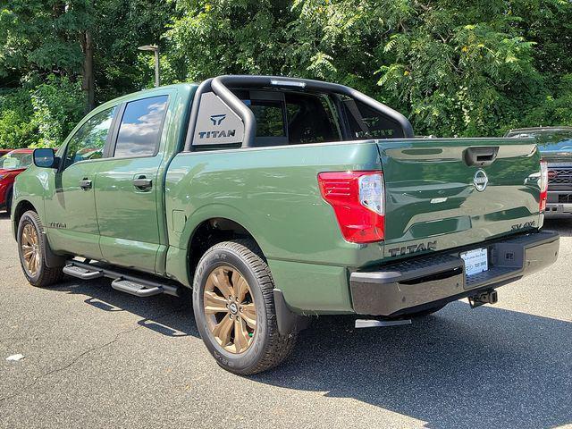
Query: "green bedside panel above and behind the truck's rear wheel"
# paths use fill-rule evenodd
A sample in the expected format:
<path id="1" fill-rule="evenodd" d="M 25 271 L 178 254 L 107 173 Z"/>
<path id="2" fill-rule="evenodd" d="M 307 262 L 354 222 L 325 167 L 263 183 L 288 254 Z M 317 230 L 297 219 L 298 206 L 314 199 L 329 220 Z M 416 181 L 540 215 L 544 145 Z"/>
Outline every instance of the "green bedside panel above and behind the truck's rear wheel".
<path id="1" fill-rule="evenodd" d="M 351 312 L 346 267 L 383 256 L 383 243 L 343 240 L 317 174 L 379 169 L 373 142 L 183 153 L 165 181 L 167 272 L 189 284 L 189 241 L 200 223 L 223 217 L 257 240 L 274 282 L 300 311 Z M 181 231 L 173 216 L 184 214 Z M 190 249 L 192 252 L 192 249 Z"/>

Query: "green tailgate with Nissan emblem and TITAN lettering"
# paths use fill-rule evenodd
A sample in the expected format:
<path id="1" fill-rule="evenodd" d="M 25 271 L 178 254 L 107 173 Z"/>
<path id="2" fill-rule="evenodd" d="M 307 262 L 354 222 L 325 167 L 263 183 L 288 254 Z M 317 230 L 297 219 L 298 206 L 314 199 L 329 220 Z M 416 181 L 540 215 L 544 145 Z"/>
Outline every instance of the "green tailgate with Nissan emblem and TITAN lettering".
<path id="1" fill-rule="evenodd" d="M 378 147 L 386 187 L 384 257 L 540 226 L 533 139 L 393 140 Z"/>

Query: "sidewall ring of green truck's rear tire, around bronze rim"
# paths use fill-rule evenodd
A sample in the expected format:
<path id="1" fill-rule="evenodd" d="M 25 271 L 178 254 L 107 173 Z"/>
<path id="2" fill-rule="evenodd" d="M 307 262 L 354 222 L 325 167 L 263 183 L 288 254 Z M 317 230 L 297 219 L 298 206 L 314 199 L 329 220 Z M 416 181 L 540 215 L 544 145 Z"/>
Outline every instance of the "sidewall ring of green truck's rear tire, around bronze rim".
<path id="1" fill-rule="evenodd" d="M 248 282 L 257 308 L 257 329 L 253 342 L 243 353 L 235 354 L 225 349 L 214 339 L 206 323 L 204 312 L 204 290 L 206 279 L 214 268 L 221 265 L 230 265 L 237 269 Z M 259 286 L 257 275 L 252 268 L 243 261 L 240 255 L 229 248 L 213 248 L 198 263 L 197 272 L 193 284 L 193 311 L 197 322 L 198 332 L 217 362 L 231 371 L 247 371 L 248 368 L 257 366 L 257 363 L 265 356 L 268 339 L 268 315 L 266 314 L 265 299 Z"/>

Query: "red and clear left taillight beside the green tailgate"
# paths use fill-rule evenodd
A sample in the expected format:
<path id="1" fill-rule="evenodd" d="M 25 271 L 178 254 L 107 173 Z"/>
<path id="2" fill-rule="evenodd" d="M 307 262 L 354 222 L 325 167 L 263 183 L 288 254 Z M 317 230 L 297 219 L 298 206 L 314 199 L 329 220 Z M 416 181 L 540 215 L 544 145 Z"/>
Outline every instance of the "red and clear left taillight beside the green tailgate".
<path id="1" fill-rule="evenodd" d="M 344 239 L 383 240 L 385 188 L 382 172 L 321 172 L 322 197 L 333 207 Z"/>

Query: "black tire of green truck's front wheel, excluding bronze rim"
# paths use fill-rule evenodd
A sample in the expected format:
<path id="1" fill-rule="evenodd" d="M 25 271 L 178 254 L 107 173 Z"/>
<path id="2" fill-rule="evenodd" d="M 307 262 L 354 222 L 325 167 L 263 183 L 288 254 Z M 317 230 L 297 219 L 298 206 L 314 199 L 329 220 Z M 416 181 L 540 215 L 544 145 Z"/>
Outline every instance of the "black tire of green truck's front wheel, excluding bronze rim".
<path id="1" fill-rule="evenodd" d="M 31 227 L 38 234 L 39 263 L 37 273 L 30 273 L 24 262 L 22 252 L 22 232 L 24 231 L 26 225 L 31 225 Z M 49 267 L 46 265 L 46 238 L 44 236 L 44 227 L 39 219 L 38 214 L 33 210 L 29 210 L 22 214 L 20 223 L 18 223 L 17 239 L 18 256 L 20 257 L 21 270 L 29 284 L 38 288 L 45 288 L 46 286 L 50 286 L 63 280 L 62 266 Z"/>

